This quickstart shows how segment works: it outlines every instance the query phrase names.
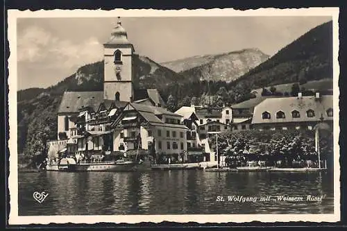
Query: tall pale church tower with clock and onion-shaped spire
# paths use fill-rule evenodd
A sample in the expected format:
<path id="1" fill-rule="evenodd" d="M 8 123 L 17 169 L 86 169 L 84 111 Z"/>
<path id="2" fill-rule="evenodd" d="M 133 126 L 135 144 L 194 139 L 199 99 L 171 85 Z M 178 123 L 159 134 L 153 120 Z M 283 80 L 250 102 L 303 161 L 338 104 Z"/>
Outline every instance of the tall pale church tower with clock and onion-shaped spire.
<path id="1" fill-rule="evenodd" d="M 115 101 L 133 101 L 133 44 L 121 26 L 118 17 L 117 26 L 113 28 L 110 40 L 103 44 L 104 80 L 103 99 Z"/>

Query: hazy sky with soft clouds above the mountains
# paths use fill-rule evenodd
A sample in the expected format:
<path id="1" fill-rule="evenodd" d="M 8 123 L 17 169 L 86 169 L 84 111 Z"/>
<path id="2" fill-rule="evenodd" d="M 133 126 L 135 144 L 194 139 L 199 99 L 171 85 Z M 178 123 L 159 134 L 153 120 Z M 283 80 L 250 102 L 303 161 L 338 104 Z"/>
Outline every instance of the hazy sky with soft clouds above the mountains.
<path id="1" fill-rule="evenodd" d="M 135 52 L 155 62 L 257 48 L 268 55 L 331 17 L 122 17 Z M 17 19 L 17 88 L 49 87 L 103 60 L 117 17 Z"/>

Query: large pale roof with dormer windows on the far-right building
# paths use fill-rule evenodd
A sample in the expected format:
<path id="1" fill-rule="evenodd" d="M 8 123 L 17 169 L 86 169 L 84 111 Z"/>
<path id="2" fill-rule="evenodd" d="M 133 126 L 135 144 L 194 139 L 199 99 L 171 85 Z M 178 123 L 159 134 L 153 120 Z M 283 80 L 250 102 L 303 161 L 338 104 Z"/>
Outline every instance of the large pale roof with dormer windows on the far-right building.
<path id="1" fill-rule="evenodd" d="M 316 99 L 315 96 L 269 98 L 262 101 L 254 108 L 252 123 L 285 123 L 285 122 L 303 122 L 320 121 L 323 114 L 323 120 L 332 120 L 328 117 L 326 110 L 333 108 L 332 96 L 321 96 Z M 299 118 L 293 118 L 291 112 L 297 110 L 300 113 Z M 314 117 L 307 117 L 307 110 L 314 110 Z M 262 119 L 263 112 L 271 114 L 270 119 Z M 282 111 L 285 113 L 284 119 L 276 119 L 276 113 Z"/>

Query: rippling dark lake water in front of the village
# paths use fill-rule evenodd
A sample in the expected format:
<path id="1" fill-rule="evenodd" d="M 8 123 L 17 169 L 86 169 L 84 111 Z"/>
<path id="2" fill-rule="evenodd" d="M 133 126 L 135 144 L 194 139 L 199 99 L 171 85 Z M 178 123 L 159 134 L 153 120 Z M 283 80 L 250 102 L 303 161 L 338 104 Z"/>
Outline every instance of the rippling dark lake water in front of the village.
<path id="1" fill-rule="evenodd" d="M 201 170 L 19 173 L 19 216 L 106 214 L 328 214 L 332 173 L 232 173 Z M 42 203 L 35 191 L 49 195 Z M 303 197 L 284 202 L 277 196 Z M 307 196 L 324 196 L 307 201 Z M 223 196 L 224 201 L 216 201 Z M 228 201 L 228 196 L 271 200 Z M 242 199 L 241 199 L 242 200 Z"/>

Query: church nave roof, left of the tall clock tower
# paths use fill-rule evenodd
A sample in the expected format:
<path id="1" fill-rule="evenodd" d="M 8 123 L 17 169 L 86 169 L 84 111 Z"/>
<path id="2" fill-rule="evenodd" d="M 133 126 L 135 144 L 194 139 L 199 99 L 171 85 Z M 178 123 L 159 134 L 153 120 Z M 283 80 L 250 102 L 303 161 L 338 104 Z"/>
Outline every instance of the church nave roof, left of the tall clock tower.
<path id="1" fill-rule="evenodd" d="M 91 107 L 98 110 L 103 101 L 103 92 L 64 92 L 60 102 L 58 113 L 76 113 L 84 107 Z"/>

